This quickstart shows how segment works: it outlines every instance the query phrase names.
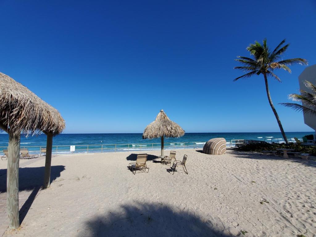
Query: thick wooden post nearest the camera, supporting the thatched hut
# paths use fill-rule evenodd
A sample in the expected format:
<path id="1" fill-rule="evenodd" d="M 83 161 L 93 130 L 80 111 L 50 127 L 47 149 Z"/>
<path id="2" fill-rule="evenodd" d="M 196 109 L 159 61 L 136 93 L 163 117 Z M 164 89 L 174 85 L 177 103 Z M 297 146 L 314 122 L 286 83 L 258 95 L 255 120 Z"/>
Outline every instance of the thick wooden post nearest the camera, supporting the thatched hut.
<path id="1" fill-rule="evenodd" d="M 7 207 L 9 227 L 19 228 L 19 162 L 20 136 L 9 132 L 8 166 L 7 166 Z"/>

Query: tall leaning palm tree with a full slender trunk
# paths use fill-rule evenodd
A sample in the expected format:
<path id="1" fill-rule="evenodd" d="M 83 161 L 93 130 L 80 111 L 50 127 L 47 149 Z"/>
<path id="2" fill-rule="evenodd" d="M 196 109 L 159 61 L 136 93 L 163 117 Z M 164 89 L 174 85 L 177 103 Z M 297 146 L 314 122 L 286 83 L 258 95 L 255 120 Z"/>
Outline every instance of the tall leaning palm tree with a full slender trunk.
<path id="1" fill-rule="evenodd" d="M 276 48 L 271 52 L 269 47 L 267 46 L 267 40 L 263 40 L 263 44 L 259 42 L 255 42 L 255 44 L 250 44 L 246 49 L 250 52 L 253 58 L 241 57 L 238 56 L 236 61 L 240 62 L 243 66 L 241 67 L 234 67 L 234 69 L 239 69 L 244 72 L 247 72 L 245 75 L 239 76 L 234 81 L 237 81 L 240 78 L 249 78 L 254 75 L 262 74 L 264 77 L 265 82 L 265 89 L 267 92 L 269 104 L 271 109 L 276 117 L 276 121 L 280 127 L 280 131 L 284 138 L 285 143 L 288 144 L 288 139 L 285 136 L 280 118 L 276 112 L 276 109 L 272 103 L 269 86 L 268 86 L 268 79 L 267 77 L 270 76 L 276 79 L 278 82 L 281 82 L 280 78 L 274 74 L 275 69 L 284 69 L 291 73 L 289 66 L 292 64 L 305 64 L 307 65 L 307 60 L 303 58 L 291 58 L 291 59 L 281 59 L 281 55 L 287 50 L 289 44 L 283 46 L 285 40 L 282 40 L 281 43 L 276 46 Z M 279 61 L 280 60 L 280 61 Z"/>

